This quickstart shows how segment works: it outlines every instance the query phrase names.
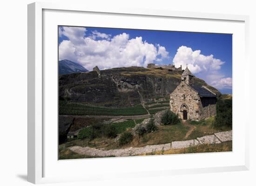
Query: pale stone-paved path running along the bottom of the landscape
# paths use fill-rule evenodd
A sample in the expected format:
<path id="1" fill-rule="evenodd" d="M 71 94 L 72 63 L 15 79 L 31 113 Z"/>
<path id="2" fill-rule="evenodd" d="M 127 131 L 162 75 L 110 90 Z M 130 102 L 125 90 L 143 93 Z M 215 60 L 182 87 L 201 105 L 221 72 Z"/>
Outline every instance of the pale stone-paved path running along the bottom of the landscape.
<path id="1" fill-rule="evenodd" d="M 232 130 L 218 132 L 213 135 L 206 135 L 194 140 L 186 141 L 172 141 L 171 143 L 161 145 L 147 145 L 144 147 L 130 147 L 120 149 L 97 149 L 90 147 L 74 146 L 69 149 L 78 154 L 90 155 L 90 156 L 131 156 L 144 153 L 151 153 L 152 151 L 166 151 L 169 149 L 189 148 L 191 146 L 202 145 L 202 144 L 216 144 L 224 141 L 232 141 Z"/>

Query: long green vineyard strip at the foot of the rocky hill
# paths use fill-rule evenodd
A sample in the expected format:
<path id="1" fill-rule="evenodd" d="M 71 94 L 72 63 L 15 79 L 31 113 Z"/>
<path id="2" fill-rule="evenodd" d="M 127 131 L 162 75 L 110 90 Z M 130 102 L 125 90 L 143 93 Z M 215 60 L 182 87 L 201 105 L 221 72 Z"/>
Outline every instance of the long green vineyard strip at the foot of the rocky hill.
<path id="1" fill-rule="evenodd" d="M 59 115 L 145 115 L 147 110 L 141 104 L 133 107 L 110 108 L 90 104 L 59 101 Z"/>

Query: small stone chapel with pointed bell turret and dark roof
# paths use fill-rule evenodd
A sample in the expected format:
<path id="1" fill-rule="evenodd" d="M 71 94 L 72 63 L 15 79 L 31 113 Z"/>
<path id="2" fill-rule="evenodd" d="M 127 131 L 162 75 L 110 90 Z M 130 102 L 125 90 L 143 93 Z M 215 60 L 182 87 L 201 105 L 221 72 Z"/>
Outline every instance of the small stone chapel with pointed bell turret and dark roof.
<path id="1" fill-rule="evenodd" d="M 216 94 L 206 87 L 194 85 L 194 75 L 188 67 L 182 82 L 170 94 L 170 110 L 183 120 L 201 120 L 216 115 Z"/>

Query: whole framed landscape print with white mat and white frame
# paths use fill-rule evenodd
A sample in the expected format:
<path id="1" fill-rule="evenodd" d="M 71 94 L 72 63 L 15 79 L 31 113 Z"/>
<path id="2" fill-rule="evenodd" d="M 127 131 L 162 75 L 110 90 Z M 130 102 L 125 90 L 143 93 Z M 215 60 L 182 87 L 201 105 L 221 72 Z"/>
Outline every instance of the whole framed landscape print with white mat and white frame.
<path id="1" fill-rule="evenodd" d="M 248 21 L 28 5 L 28 181 L 248 170 Z"/>

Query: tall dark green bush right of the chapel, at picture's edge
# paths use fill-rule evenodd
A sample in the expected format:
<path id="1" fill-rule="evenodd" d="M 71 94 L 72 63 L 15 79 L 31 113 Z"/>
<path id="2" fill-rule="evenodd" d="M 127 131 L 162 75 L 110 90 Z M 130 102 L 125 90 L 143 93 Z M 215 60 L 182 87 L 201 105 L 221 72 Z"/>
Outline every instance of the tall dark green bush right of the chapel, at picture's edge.
<path id="1" fill-rule="evenodd" d="M 223 98 L 224 97 L 224 98 Z M 216 103 L 215 127 L 232 127 L 232 97 L 220 97 Z"/>

